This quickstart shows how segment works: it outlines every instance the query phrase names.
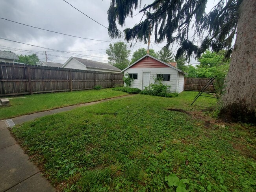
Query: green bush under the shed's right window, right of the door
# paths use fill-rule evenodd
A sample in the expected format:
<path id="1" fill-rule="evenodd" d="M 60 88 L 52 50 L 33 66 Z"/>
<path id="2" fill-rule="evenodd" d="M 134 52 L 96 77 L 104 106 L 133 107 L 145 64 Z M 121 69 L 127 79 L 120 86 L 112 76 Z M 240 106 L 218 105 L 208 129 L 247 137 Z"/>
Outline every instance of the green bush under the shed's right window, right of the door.
<path id="1" fill-rule="evenodd" d="M 155 83 L 150 83 L 148 87 L 145 87 L 141 94 L 144 95 L 154 95 L 160 97 L 177 97 L 178 93 L 169 93 L 170 85 L 165 85 L 161 81 L 155 81 Z"/>

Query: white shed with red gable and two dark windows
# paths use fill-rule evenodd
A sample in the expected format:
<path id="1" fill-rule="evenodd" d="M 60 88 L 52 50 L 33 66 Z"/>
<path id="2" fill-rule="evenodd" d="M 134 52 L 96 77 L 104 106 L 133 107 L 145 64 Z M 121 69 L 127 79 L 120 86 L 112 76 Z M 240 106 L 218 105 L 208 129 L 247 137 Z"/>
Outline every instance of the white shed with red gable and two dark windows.
<path id="1" fill-rule="evenodd" d="M 148 54 L 122 72 L 128 73 L 134 79 L 132 88 L 143 90 L 145 86 L 154 83 L 154 78 L 161 76 L 163 83 L 171 86 L 170 92 L 180 93 L 184 89 L 185 72 Z"/>

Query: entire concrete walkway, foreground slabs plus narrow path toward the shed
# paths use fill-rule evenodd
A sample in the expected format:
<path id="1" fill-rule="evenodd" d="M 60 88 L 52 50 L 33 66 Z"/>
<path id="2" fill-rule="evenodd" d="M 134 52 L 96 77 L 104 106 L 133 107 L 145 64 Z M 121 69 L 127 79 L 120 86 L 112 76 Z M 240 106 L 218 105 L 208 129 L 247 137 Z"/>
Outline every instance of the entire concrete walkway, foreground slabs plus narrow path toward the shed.
<path id="1" fill-rule="evenodd" d="M 70 111 L 77 107 L 107 102 L 132 95 L 62 107 L 49 111 L 23 115 L 12 119 L 0 121 L 0 192 L 54 192 L 55 189 L 42 177 L 39 169 L 29 161 L 15 138 L 11 136 L 8 127 L 33 120 L 46 115 Z"/>

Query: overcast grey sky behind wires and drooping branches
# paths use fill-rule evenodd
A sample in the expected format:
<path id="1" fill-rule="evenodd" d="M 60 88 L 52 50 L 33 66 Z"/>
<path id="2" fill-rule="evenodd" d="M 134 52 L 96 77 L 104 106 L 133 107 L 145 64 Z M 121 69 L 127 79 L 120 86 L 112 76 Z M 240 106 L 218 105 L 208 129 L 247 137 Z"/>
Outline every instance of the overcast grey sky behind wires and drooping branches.
<path id="1" fill-rule="evenodd" d="M 67 0 L 67 2 L 103 26 L 108 27 L 107 11 L 110 0 Z M 143 0 L 141 6 L 150 4 L 150 2 L 153 0 Z M 74 56 L 107 63 L 106 49 L 109 48 L 109 43 L 124 41 L 123 37 L 121 39 L 109 39 L 106 28 L 86 17 L 63 0 L 1 0 L 0 6 L 0 17 L 2 18 L 78 37 L 110 41 L 102 42 L 69 37 L 0 19 L 0 38 L 71 53 L 54 52 L 3 39 L 0 39 L 0 50 L 11 50 L 19 55 L 36 53 L 40 61 L 45 61 L 44 51 L 46 51 L 50 62 L 65 63 L 69 57 Z M 209 4 L 207 8 L 210 9 L 211 7 L 213 5 Z M 134 11 L 134 15 L 138 12 L 139 9 Z M 142 13 L 133 18 L 127 18 L 125 28 L 133 27 L 141 20 L 141 17 Z M 195 40 L 200 42 L 198 37 Z M 154 39 L 151 42 L 150 48 L 156 52 L 165 46 L 165 42 L 157 45 L 154 44 Z M 139 48 L 147 49 L 147 44 L 144 42 L 137 42 L 132 47 L 130 47 L 130 42 L 127 45 L 132 53 Z M 174 44 L 173 53 L 176 52 L 176 49 L 177 45 Z M 191 59 L 191 63 L 194 64 L 197 61 Z"/>

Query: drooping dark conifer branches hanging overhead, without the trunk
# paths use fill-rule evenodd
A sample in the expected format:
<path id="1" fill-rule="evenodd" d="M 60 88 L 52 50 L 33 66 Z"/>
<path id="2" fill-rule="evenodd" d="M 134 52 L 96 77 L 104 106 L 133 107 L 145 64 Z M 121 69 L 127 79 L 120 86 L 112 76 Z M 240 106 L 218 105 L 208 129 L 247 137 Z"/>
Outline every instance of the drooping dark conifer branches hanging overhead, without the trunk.
<path id="1" fill-rule="evenodd" d="M 238 9 L 242 0 L 219 0 L 209 13 L 205 13 L 208 0 L 155 0 L 143 7 L 145 20 L 141 20 L 133 28 L 124 30 L 126 41 L 139 39 L 147 41 L 148 33 L 154 30 L 155 43 L 167 41 L 167 46 L 174 42 L 180 43 L 176 59 L 182 55 L 189 58 L 192 54 L 199 57 L 207 49 L 219 52 L 226 48 L 226 57 L 232 52 L 232 40 L 236 34 Z M 138 0 L 126 3 L 111 0 L 108 10 L 109 36 L 120 37 L 116 21 L 120 26 L 125 25 L 127 17 L 133 16 L 133 9 L 139 6 Z M 192 21 L 194 20 L 194 21 Z M 200 36 L 207 31 L 201 46 L 190 41 L 188 32 L 194 28 Z"/>

